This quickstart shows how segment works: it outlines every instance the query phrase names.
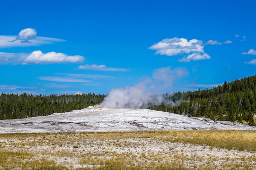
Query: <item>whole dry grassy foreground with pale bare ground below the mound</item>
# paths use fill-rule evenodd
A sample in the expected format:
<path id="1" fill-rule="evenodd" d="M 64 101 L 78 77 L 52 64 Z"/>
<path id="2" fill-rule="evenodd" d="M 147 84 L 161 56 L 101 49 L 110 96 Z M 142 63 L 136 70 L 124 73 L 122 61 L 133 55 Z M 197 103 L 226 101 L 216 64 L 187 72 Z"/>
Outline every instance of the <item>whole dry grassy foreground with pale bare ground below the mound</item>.
<path id="1" fill-rule="evenodd" d="M 0 170 L 255 170 L 256 131 L 0 134 Z"/>

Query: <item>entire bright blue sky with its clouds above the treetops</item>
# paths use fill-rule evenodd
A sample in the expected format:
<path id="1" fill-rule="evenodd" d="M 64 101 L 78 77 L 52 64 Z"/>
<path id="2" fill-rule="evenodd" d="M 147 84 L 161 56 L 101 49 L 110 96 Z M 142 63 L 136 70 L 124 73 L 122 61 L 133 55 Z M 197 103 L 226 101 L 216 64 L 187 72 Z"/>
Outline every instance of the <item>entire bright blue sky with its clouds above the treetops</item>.
<path id="1" fill-rule="evenodd" d="M 107 94 L 143 84 L 165 93 L 255 75 L 255 5 L 1 0 L 0 92 Z"/>

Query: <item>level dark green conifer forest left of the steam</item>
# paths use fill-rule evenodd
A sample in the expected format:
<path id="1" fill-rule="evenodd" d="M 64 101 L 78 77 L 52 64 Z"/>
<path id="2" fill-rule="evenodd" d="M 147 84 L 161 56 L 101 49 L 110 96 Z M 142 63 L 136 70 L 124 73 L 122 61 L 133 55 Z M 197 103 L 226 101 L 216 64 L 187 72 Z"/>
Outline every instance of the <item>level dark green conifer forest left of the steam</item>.
<path id="1" fill-rule="evenodd" d="M 21 119 L 46 116 L 55 112 L 79 110 L 99 104 L 106 95 L 83 93 L 81 95 L 50 94 L 33 95 L 27 93 L 0 95 L 0 119 Z"/>

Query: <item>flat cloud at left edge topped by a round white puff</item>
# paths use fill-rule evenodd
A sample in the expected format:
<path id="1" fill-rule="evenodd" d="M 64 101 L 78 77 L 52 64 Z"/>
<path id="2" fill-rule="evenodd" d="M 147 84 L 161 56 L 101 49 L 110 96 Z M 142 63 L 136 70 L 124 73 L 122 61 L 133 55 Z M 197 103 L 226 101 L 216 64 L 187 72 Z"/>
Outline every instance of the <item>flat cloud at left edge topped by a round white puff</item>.
<path id="1" fill-rule="evenodd" d="M 42 44 L 65 41 L 58 38 L 36 36 L 36 34 L 35 29 L 26 28 L 21 30 L 16 36 L 0 35 L 0 48 L 38 46 Z"/>

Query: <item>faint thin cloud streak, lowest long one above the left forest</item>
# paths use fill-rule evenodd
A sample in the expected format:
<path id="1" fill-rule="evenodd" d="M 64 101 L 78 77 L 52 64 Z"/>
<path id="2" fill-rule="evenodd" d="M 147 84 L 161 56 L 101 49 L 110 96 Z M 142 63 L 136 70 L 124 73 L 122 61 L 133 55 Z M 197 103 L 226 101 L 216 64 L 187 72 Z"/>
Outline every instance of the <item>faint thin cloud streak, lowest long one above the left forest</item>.
<path id="1" fill-rule="evenodd" d="M 37 77 L 40 80 L 53 81 L 53 82 L 69 82 L 69 83 L 91 83 L 90 80 L 68 78 L 68 77 L 59 77 L 59 76 L 40 76 Z"/>

